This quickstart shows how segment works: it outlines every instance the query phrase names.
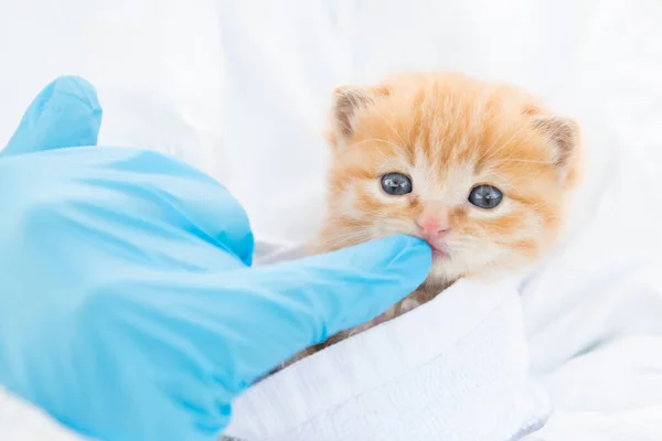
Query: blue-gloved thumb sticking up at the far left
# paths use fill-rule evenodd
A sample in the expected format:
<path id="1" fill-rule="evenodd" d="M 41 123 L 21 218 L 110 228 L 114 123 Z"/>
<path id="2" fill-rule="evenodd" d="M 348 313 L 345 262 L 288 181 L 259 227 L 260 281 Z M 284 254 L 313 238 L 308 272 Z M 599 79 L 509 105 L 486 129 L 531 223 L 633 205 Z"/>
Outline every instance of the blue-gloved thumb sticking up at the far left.
<path id="1" fill-rule="evenodd" d="M 96 146 L 102 114 L 96 90 L 88 82 L 58 77 L 34 98 L 1 153 Z"/>

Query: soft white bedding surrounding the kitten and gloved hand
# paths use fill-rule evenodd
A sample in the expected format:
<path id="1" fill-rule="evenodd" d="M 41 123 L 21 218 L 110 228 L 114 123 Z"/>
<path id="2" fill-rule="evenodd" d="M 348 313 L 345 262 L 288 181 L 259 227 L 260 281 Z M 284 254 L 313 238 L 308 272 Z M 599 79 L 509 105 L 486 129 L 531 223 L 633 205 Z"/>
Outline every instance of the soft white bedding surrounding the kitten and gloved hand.
<path id="1" fill-rule="evenodd" d="M 662 439 L 659 1 L 10 0 L 0 22 L 0 139 L 43 84 L 85 76 L 99 143 L 202 168 L 258 238 L 289 245 L 321 208 L 334 86 L 452 68 L 542 95 L 583 122 L 588 171 L 566 243 L 519 284 L 531 376 L 554 409 L 527 439 Z M 3 433 L 45 439 L 10 415 Z"/>

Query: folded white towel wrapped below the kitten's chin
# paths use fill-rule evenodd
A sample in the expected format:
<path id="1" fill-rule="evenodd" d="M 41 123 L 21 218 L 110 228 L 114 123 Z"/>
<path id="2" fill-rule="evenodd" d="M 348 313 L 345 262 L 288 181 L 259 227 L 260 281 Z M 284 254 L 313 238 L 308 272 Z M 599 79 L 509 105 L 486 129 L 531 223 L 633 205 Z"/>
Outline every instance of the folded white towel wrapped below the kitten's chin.
<path id="1" fill-rule="evenodd" d="M 298 249 L 260 245 L 289 259 Z M 241 397 L 247 441 L 506 441 L 544 426 L 514 280 L 462 280 L 396 320 L 305 358 Z"/>

